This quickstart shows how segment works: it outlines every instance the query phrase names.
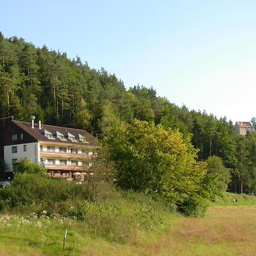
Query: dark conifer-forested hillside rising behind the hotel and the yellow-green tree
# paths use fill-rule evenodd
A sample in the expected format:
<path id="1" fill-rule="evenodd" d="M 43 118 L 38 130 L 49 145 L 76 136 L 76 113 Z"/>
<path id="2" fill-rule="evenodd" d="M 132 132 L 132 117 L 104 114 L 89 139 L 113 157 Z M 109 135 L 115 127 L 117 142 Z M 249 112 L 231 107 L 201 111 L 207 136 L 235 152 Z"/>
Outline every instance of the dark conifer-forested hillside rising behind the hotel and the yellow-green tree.
<path id="1" fill-rule="evenodd" d="M 122 80 L 104 68 L 91 69 L 79 57 L 70 60 L 66 53 L 36 48 L 15 36 L 7 39 L 1 32 L 0 114 L 20 121 L 30 121 L 33 114 L 42 123 L 86 129 L 99 138 L 134 119 L 162 123 L 190 136 L 199 160 L 220 157 L 232 170 L 231 190 L 239 191 L 239 180 L 249 192 L 255 187 L 254 135 L 242 138 L 225 118 L 179 108 L 157 97 L 153 88 L 126 90 Z M 1 131 L 5 124 L 0 122 Z"/>

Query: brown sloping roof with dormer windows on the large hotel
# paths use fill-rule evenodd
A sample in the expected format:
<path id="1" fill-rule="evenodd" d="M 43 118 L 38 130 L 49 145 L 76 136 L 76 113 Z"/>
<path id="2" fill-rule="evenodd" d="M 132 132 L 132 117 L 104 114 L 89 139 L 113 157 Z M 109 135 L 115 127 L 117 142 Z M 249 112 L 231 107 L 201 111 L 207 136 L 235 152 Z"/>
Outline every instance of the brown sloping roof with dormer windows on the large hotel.
<path id="1" fill-rule="evenodd" d="M 37 141 L 45 141 L 45 142 L 57 142 L 57 143 L 65 143 L 65 144 L 80 144 L 80 143 L 86 143 L 88 146 L 100 146 L 100 143 L 98 140 L 93 137 L 93 135 L 89 134 L 86 130 L 81 129 L 74 129 L 74 128 L 68 128 L 68 127 L 61 127 L 61 126 L 53 126 L 53 125 L 41 125 L 41 129 L 39 129 L 38 123 L 34 123 L 34 129 L 31 127 L 30 122 L 20 122 L 20 121 L 12 121 L 20 127 L 20 129 L 26 131 L 26 133 L 30 134 L 33 138 L 35 138 Z M 44 135 L 43 131 L 49 131 L 52 133 L 52 137 L 54 139 L 50 139 Z M 57 133 L 56 133 L 57 132 Z M 73 141 L 69 139 L 68 137 L 65 137 L 65 140 L 61 140 L 56 135 L 58 133 L 61 134 L 72 134 L 75 137 L 77 137 L 76 141 Z M 85 138 L 85 142 L 82 142 L 80 140 L 81 135 Z"/>

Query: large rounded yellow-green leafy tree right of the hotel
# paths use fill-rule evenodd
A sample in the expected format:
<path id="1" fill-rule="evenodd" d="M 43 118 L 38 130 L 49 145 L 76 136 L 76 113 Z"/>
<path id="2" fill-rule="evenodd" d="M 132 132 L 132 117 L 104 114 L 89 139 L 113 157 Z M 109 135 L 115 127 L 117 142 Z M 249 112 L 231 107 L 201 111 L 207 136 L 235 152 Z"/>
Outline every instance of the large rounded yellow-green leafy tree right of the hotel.
<path id="1" fill-rule="evenodd" d="M 204 202 L 201 195 L 207 195 L 203 193 L 207 171 L 204 163 L 196 162 L 197 151 L 179 131 L 135 120 L 127 129 L 112 129 L 104 144 L 117 168 L 119 187 L 158 193 L 184 214 L 197 215 Z"/>

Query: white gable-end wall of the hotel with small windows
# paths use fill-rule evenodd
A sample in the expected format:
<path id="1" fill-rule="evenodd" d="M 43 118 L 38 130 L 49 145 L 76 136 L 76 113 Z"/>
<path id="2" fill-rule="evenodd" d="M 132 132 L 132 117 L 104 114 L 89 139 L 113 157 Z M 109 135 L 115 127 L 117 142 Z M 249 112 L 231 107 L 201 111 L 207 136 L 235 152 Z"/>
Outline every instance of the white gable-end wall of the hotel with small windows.
<path id="1" fill-rule="evenodd" d="M 27 151 L 23 150 L 23 145 L 27 145 Z M 17 147 L 17 152 L 12 152 L 12 147 Z M 12 159 L 20 160 L 20 158 L 28 158 L 31 159 L 34 163 L 39 163 L 39 143 L 25 143 L 25 144 L 15 144 L 8 145 L 3 147 L 5 154 L 5 162 L 8 164 L 9 170 L 13 171 L 13 161 Z"/>

